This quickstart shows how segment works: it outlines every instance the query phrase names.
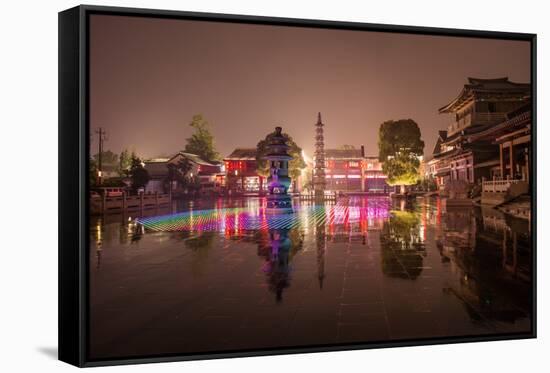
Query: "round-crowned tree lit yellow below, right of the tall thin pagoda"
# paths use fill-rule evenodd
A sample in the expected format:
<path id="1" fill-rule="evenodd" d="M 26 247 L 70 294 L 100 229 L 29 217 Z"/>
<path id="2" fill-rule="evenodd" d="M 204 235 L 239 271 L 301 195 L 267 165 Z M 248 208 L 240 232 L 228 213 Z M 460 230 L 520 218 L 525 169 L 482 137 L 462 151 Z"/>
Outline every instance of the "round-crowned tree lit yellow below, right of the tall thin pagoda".
<path id="1" fill-rule="evenodd" d="M 424 154 L 420 128 L 412 119 L 386 121 L 378 131 L 378 158 L 389 185 L 414 185 L 419 180 L 419 157 Z"/>

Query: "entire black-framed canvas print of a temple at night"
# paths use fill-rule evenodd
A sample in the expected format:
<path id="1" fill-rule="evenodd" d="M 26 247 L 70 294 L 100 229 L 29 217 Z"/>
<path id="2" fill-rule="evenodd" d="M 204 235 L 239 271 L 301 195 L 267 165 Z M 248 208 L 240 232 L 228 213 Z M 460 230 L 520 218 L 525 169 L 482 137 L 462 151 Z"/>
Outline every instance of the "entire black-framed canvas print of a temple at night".
<path id="1" fill-rule="evenodd" d="M 59 13 L 59 358 L 533 338 L 536 36 Z"/>

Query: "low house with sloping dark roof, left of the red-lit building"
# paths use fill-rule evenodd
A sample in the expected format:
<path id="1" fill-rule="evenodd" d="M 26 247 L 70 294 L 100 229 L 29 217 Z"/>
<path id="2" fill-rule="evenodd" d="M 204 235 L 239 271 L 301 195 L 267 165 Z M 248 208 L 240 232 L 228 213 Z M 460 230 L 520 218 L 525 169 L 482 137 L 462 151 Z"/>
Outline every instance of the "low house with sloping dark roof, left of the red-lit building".
<path id="1" fill-rule="evenodd" d="M 223 168 L 221 164 L 210 163 L 198 155 L 179 152 L 171 158 L 156 158 L 145 161 L 145 169 L 151 178 L 145 187 L 146 192 L 164 192 L 168 177 L 168 165 L 178 164 L 186 159 L 191 165 L 188 175 L 198 177 L 201 191 L 211 192 L 219 190 L 223 182 Z"/>

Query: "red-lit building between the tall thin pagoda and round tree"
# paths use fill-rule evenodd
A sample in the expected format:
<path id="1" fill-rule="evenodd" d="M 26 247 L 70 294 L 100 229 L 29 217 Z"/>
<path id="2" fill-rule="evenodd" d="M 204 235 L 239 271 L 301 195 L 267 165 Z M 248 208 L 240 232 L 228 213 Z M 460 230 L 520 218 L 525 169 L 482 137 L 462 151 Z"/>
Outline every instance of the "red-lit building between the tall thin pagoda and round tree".
<path id="1" fill-rule="evenodd" d="M 365 157 L 361 149 L 325 151 L 326 189 L 345 192 L 388 193 L 386 175 L 377 157 Z"/>

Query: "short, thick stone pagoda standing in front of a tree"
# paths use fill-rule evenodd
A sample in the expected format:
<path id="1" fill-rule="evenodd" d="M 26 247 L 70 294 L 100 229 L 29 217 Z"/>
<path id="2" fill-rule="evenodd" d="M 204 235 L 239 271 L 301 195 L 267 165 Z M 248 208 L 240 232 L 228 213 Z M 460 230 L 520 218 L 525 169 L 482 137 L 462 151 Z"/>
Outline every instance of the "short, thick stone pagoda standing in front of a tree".
<path id="1" fill-rule="evenodd" d="M 276 127 L 275 133 L 269 137 L 264 159 L 269 162 L 267 211 L 284 213 L 292 211 L 292 199 L 288 195 L 290 187 L 288 161 L 292 157 L 288 154 L 290 147 L 286 144 L 281 131 L 281 127 Z"/>

